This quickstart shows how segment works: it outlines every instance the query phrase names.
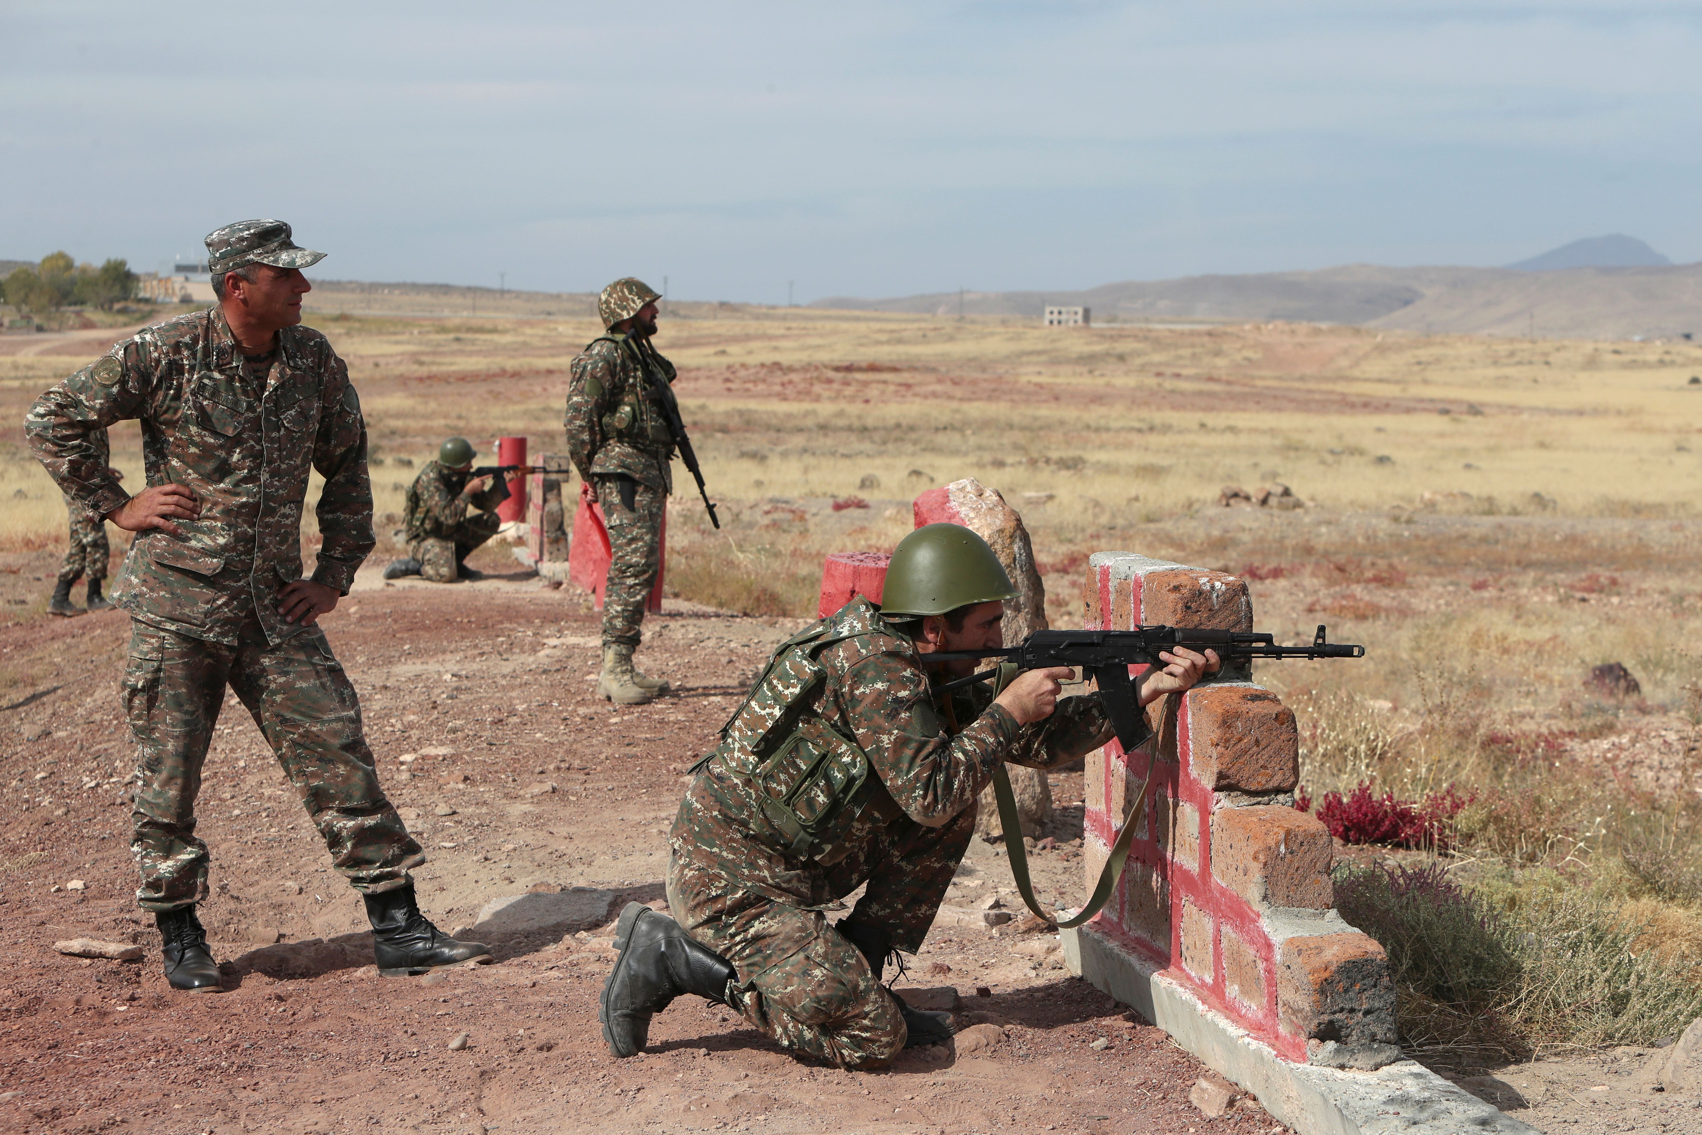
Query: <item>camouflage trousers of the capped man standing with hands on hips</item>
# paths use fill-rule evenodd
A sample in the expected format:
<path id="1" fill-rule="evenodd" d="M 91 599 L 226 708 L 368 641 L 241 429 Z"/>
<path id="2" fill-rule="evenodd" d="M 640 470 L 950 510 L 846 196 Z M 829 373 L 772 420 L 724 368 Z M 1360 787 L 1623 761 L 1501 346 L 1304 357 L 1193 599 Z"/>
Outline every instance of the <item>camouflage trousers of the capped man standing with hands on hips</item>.
<path id="1" fill-rule="evenodd" d="M 354 686 L 320 628 L 272 647 L 250 618 L 230 647 L 134 621 L 123 701 L 140 781 L 131 812 L 131 853 L 141 870 L 136 902 L 172 910 L 208 893 L 196 796 L 225 686 L 277 754 L 332 866 L 359 892 L 402 887 L 426 854 L 378 786 Z"/>

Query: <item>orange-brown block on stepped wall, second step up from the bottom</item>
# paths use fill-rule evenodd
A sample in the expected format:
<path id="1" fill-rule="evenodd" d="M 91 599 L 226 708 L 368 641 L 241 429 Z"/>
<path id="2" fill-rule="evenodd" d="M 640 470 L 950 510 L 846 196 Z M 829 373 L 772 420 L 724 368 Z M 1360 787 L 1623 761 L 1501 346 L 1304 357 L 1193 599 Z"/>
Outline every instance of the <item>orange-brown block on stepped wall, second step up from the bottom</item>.
<path id="1" fill-rule="evenodd" d="M 1212 817 L 1212 875 L 1254 909 L 1334 902 L 1329 832 L 1285 807 L 1224 808 Z"/>

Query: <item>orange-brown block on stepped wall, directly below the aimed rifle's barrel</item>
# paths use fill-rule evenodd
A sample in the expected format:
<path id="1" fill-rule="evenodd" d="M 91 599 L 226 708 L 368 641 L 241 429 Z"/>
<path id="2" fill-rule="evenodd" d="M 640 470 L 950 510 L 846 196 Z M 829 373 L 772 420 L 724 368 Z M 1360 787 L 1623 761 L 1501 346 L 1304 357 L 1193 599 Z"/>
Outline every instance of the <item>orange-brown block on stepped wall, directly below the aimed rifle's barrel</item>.
<path id="1" fill-rule="evenodd" d="M 1202 686 L 1188 694 L 1195 778 L 1214 791 L 1292 791 L 1300 779 L 1294 710 L 1258 686 Z"/>

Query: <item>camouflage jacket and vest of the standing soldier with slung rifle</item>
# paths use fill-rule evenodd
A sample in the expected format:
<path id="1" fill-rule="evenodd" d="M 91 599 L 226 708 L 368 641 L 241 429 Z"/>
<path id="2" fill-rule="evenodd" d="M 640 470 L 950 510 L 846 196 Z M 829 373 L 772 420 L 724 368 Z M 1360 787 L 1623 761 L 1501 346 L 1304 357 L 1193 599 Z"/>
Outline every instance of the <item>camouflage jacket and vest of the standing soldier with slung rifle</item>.
<path id="1" fill-rule="evenodd" d="M 645 376 L 650 368 L 662 391 Z M 626 475 L 674 492 L 674 437 L 655 398 L 672 398 L 674 364 L 642 351 L 621 332 L 594 339 L 574 359 L 567 388 L 567 453 L 589 483 L 596 475 Z"/>

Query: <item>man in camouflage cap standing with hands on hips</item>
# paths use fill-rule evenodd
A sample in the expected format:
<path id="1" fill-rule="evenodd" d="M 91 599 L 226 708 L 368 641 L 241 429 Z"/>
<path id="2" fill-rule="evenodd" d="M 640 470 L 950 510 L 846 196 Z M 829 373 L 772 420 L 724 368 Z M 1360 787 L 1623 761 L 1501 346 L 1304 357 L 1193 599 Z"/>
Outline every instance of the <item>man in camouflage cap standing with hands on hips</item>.
<path id="1" fill-rule="evenodd" d="M 254 716 L 332 864 L 364 895 L 381 973 L 490 960 L 419 910 L 408 870 L 426 854 L 378 784 L 361 706 L 317 626 L 373 550 L 366 422 L 330 344 L 300 327 L 301 248 L 283 221 L 208 235 L 218 305 L 146 327 L 48 390 L 31 449 L 66 497 L 136 533 L 114 599 L 133 619 L 121 698 L 138 749 L 131 849 L 136 900 L 155 914 L 172 989 L 218 992 L 196 917 L 208 847 L 196 837 L 201 766 L 225 687 Z M 107 468 L 112 422 L 141 422 L 146 488 Z M 301 577 L 308 473 L 323 543 Z"/>

